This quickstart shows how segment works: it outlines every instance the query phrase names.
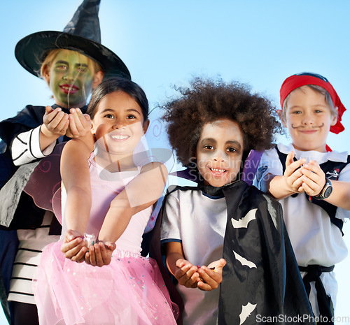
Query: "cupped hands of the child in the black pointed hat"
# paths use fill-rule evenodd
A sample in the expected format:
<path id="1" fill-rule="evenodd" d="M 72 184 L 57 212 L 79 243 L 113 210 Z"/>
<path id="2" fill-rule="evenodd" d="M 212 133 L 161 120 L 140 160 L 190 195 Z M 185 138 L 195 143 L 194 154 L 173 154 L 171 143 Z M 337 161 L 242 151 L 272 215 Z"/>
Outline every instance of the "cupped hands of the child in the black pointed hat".
<path id="1" fill-rule="evenodd" d="M 52 109 L 46 106 L 43 116 L 44 127 L 56 136 L 68 136 L 80 138 L 91 129 L 90 115 L 83 114 L 80 108 L 71 108 L 70 114 L 66 114 L 61 108 Z"/>

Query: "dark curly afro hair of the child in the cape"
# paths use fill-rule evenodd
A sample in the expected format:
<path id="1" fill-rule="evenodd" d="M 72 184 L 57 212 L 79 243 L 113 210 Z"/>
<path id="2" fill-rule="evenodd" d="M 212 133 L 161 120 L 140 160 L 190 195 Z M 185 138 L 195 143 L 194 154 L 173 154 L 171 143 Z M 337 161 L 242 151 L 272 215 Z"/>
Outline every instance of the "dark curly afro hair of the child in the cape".
<path id="1" fill-rule="evenodd" d="M 169 142 L 183 166 L 191 166 L 204 124 L 221 118 L 239 124 L 244 138 L 244 159 L 250 150 L 272 147 L 274 133 L 282 130 L 272 103 L 252 94 L 248 85 L 195 78 L 182 96 L 170 101 L 163 120 L 168 122 Z"/>

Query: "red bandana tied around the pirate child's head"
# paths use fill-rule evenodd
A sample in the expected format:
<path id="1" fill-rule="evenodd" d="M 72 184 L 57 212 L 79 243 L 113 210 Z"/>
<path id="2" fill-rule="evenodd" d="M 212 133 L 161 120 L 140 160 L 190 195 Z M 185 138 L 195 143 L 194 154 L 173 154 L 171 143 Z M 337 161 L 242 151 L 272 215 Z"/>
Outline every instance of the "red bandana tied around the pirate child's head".
<path id="1" fill-rule="evenodd" d="M 296 75 L 291 75 L 286 80 L 284 80 L 281 86 L 281 90 L 279 91 L 279 94 L 281 96 L 281 107 L 283 108 L 283 101 L 286 99 L 286 96 L 290 94 L 290 92 L 304 85 L 318 85 L 329 92 L 334 106 L 338 108 L 337 123 L 330 127 L 330 131 L 336 134 L 344 131 L 344 127 L 341 121 L 342 115 L 346 108 L 344 108 L 344 105 L 340 101 L 337 92 L 335 92 L 335 89 L 332 87 L 332 85 L 330 85 L 330 82 L 322 75 L 318 75 L 316 73 L 297 73 Z"/>

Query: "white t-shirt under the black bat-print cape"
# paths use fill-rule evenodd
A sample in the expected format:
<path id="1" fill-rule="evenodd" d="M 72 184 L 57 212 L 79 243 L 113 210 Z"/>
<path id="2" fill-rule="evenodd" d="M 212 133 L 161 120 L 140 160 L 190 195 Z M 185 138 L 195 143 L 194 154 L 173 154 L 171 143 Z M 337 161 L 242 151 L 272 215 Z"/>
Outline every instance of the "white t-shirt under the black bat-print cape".
<path id="1" fill-rule="evenodd" d="M 185 258 L 198 266 L 223 257 L 227 222 L 225 198 L 213 198 L 200 190 L 176 190 L 167 196 L 163 213 L 162 243 L 182 243 Z M 215 325 L 218 317 L 219 288 L 212 291 L 178 285 L 185 310 L 184 325 Z"/>

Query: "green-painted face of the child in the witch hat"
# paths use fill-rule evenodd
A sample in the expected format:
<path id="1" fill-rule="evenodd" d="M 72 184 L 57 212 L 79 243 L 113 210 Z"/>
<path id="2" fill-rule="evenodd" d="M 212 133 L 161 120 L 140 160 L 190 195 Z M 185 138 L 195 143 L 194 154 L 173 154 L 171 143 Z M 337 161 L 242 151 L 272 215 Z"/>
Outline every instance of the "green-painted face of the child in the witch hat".
<path id="1" fill-rule="evenodd" d="M 60 50 L 50 66 L 50 89 L 57 105 L 82 107 L 92 92 L 94 74 L 90 59 L 78 52 Z"/>

